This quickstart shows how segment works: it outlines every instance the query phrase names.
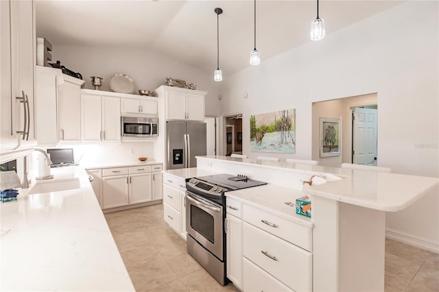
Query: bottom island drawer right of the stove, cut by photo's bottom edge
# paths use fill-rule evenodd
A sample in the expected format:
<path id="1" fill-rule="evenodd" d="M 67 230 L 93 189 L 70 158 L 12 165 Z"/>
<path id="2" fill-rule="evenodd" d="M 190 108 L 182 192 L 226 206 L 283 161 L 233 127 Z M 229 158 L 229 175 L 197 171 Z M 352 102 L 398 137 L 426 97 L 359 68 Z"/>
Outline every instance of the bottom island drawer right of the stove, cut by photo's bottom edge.
<path id="1" fill-rule="evenodd" d="M 243 262 L 244 291 L 292 291 L 247 258 L 244 258 Z"/>

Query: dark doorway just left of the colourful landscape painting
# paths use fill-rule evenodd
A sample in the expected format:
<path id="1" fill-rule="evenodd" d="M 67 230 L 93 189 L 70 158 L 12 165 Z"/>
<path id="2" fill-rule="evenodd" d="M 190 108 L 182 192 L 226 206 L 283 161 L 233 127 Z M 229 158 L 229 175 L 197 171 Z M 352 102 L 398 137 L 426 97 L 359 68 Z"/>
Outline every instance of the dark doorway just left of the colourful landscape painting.
<path id="1" fill-rule="evenodd" d="M 224 155 L 242 154 L 242 114 L 224 116 Z"/>

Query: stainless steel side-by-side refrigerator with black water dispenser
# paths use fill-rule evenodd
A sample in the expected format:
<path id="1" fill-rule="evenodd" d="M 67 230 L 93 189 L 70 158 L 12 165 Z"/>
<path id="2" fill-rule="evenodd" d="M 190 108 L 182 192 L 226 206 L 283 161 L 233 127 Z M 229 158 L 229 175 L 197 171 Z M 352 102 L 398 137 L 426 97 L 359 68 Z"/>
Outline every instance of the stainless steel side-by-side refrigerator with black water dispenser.
<path id="1" fill-rule="evenodd" d="M 206 123 L 167 121 L 166 133 L 167 169 L 196 167 L 195 156 L 206 155 Z"/>

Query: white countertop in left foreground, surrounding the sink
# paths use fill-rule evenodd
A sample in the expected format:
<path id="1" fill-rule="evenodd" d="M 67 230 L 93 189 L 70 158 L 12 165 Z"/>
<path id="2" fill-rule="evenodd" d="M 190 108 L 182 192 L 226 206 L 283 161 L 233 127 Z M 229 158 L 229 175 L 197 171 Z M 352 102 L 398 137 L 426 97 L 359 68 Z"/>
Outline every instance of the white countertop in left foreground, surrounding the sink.
<path id="1" fill-rule="evenodd" d="M 84 169 L 51 173 L 81 187 L 0 203 L 0 290 L 134 291 Z"/>

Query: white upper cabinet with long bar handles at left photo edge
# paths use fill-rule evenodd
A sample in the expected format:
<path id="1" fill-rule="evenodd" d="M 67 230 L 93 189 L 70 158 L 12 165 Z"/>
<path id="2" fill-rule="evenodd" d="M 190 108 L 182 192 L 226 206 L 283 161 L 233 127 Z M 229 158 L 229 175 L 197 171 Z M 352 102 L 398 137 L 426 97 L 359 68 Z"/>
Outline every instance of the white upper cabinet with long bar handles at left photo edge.
<path id="1" fill-rule="evenodd" d="M 34 1 L 0 1 L 1 153 L 36 145 Z"/>

